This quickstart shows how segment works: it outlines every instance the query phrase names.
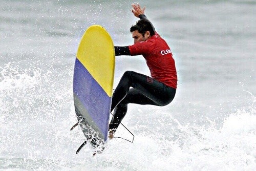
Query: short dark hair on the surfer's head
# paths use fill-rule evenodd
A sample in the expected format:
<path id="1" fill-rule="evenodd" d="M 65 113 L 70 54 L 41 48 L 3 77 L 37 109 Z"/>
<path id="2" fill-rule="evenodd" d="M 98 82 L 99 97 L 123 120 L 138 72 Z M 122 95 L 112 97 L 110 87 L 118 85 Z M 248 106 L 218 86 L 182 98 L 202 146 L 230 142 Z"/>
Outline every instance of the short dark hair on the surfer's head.
<path id="1" fill-rule="evenodd" d="M 147 19 L 140 19 L 136 23 L 136 25 L 132 26 L 130 29 L 130 32 L 138 30 L 139 33 L 141 33 L 143 36 L 146 33 L 146 31 L 150 31 L 150 35 L 153 36 L 155 34 L 154 28 L 152 27 L 152 24 Z"/>

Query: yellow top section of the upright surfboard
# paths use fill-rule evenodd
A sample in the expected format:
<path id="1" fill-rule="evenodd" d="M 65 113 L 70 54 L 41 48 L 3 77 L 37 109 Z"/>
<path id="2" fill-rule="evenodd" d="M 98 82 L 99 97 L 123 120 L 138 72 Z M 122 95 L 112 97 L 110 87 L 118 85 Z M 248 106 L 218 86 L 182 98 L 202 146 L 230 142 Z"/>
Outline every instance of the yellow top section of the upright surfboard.
<path id="1" fill-rule="evenodd" d="M 115 50 L 109 33 L 99 25 L 89 27 L 81 38 L 76 57 L 106 94 L 111 97 L 114 82 Z"/>

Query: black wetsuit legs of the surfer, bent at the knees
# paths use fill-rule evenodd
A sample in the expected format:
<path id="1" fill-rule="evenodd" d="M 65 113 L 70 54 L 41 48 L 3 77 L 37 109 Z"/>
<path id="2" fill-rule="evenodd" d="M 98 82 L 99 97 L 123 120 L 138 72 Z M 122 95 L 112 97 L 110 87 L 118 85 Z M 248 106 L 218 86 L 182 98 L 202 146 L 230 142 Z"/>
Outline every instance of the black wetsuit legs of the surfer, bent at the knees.
<path id="1" fill-rule="evenodd" d="M 109 129 L 117 129 L 127 112 L 128 103 L 163 106 L 174 99 L 175 93 L 176 89 L 151 77 L 126 71 L 113 94 L 111 111 L 115 111 Z"/>

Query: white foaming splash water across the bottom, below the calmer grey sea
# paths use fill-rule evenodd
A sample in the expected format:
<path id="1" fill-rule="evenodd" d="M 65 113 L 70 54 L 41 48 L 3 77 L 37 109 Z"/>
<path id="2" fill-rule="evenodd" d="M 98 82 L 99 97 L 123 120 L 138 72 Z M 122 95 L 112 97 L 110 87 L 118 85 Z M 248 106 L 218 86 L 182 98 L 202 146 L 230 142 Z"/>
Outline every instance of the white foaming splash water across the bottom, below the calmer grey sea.
<path id="1" fill-rule="evenodd" d="M 255 165 L 255 97 L 249 109 L 205 125 L 182 125 L 168 113 L 137 122 L 134 143 L 113 139 L 92 158 L 76 121 L 72 92 L 52 90 L 51 72 L 39 68 L 20 71 L 8 63 L 1 68 L 0 168 L 9 170 L 253 170 Z M 56 86 L 56 85 L 54 85 Z M 69 85 L 70 86 L 70 85 Z M 59 96 L 62 93 L 63 96 Z M 65 108 L 65 106 L 67 107 Z M 65 108 L 65 109 L 61 109 Z M 58 114 L 58 112 L 65 114 Z M 153 119 L 153 121 L 152 121 Z M 150 126 L 149 126 L 150 125 Z M 156 128 L 150 130 L 150 127 Z M 121 129 L 120 129 L 121 130 Z M 122 131 L 117 132 L 125 136 Z M 9 158 L 7 158 L 9 156 Z M 140 162 L 138 162 L 140 161 Z M 143 162 L 142 162 L 143 161 Z"/>

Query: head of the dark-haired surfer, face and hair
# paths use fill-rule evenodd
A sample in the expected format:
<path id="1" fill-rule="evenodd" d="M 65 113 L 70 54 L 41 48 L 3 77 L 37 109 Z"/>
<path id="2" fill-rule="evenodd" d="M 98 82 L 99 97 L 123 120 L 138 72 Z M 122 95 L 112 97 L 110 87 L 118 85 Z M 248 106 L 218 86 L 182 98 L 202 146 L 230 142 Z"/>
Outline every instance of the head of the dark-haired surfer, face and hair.
<path id="1" fill-rule="evenodd" d="M 146 41 L 155 34 L 151 23 L 146 19 L 138 20 L 136 25 L 131 27 L 130 31 L 134 38 L 134 44 L 139 41 Z"/>

